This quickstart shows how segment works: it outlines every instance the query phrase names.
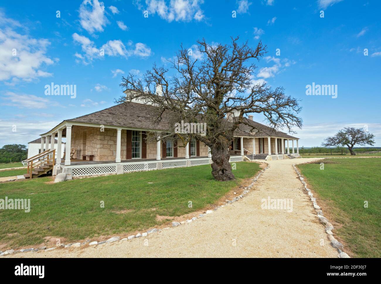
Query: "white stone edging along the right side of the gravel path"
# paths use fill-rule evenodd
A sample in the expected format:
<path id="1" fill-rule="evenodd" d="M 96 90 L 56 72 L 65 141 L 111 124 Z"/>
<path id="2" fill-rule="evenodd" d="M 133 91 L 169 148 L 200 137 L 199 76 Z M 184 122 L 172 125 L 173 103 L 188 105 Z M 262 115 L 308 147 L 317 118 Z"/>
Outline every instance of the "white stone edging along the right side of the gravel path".
<path id="1" fill-rule="evenodd" d="M 328 239 L 331 241 L 331 245 L 333 246 L 333 248 L 337 249 L 337 251 L 339 252 L 338 257 L 342 258 L 342 259 L 350 258 L 349 255 L 347 255 L 345 252 L 343 252 L 343 249 L 344 249 L 343 244 L 340 243 L 338 240 L 336 240 L 335 237 L 333 236 L 333 233 L 332 233 L 332 230 L 334 229 L 333 225 L 328 221 L 328 219 L 326 217 L 323 216 L 322 208 L 320 208 L 320 206 L 317 205 L 316 198 L 312 194 L 311 190 L 307 187 L 307 184 L 304 181 L 304 177 L 301 175 L 298 168 L 296 168 L 295 164 L 293 164 L 292 167 L 294 168 L 294 170 L 298 174 L 298 177 L 299 177 L 301 183 L 303 184 L 304 189 L 306 190 L 309 198 L 311 199 L 320 223 L 322 223 L 325 226 L 325 232 L 328 234 Z"/>

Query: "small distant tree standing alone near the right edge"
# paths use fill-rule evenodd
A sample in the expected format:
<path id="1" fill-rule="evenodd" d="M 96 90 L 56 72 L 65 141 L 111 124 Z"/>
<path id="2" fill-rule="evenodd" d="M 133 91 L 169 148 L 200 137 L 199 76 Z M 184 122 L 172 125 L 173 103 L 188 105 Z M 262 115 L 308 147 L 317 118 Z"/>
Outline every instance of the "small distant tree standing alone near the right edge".
<path id="1" fill-rule="evenodd" d="M 347 146 L 351 155 L 356 155 L 352 148 L 356 144 L 358 145 L 370 145 L 375 144 L 375 135 L 366 132 L 362 128 L 344 127 L 334 136 L 325 138 L 322 146 Z"/>

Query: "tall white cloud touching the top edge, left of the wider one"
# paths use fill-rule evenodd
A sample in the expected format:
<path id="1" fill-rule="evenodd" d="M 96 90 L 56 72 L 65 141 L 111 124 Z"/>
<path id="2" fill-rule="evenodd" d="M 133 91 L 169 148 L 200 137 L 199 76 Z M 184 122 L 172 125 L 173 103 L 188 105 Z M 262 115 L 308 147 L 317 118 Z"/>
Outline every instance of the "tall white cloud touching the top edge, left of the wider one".
<path id="1" fill-rule="evenodd" d="M 79 7 L 80 24 L 89 33 L 103 32 L 108 24 L 104 14 L 104 4 L 98 0 L 83 0 Z"/>

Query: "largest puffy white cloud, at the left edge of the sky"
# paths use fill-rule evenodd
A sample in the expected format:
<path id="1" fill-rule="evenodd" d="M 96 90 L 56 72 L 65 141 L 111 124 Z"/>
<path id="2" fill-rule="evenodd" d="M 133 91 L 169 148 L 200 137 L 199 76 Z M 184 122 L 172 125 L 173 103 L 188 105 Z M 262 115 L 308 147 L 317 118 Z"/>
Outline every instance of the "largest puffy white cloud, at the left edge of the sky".
<path id="1" fill-rule="evenodd" d="M 20 27 L 19 22 L 6 18 L 2 11 L 0 24 L 6 26 L 0 28 L 0 81 L 11 79 L 11 82 L 5 83 L 14 86 L 20 79 L 30 82 L 53 75 L 41 69 L 54 63 L 46 55 L 50 41 L 14 31 L 14 27 Z"/>

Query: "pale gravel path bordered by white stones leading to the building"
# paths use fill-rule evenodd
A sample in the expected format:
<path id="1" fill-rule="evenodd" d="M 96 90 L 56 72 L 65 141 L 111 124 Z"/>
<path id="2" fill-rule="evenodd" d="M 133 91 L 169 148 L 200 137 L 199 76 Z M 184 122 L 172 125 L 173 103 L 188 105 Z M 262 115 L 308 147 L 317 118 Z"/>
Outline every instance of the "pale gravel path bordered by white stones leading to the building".
<path id="1" fill-rule="evenodd" d="M 319 159 L 269 161 L 270 168 L 243 199 L 191 224 L 95 248 L 8 257 L 337 257 L 291 166 Z M 262 198 L 269 196 L 293 199 L 293 211 L 261 209 Z"/>

